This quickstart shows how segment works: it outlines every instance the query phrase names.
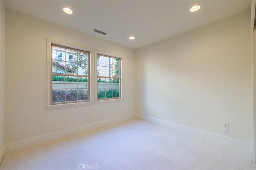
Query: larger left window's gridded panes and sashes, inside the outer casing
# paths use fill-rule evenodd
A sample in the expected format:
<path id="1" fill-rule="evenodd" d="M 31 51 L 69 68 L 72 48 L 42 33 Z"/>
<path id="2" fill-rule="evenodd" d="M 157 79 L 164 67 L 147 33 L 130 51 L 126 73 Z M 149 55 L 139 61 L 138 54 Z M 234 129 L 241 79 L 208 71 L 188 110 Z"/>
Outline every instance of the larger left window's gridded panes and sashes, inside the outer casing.
<path id="1" fill-rule="evenodd" d="M 51 51 L 51 105 L 89 101 L 90 52 L 55 44 Z"/>

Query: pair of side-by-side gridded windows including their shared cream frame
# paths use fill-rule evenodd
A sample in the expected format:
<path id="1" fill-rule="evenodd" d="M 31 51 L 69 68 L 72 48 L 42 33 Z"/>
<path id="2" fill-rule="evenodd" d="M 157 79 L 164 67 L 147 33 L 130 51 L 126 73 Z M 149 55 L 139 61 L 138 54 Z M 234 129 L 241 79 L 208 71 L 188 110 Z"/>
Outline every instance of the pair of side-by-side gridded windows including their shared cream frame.
<path id="1" fill-rule="evenodd" d="M 118 55 L 48 38 L 46 67 L 46 109 L 122 101 Z"/>

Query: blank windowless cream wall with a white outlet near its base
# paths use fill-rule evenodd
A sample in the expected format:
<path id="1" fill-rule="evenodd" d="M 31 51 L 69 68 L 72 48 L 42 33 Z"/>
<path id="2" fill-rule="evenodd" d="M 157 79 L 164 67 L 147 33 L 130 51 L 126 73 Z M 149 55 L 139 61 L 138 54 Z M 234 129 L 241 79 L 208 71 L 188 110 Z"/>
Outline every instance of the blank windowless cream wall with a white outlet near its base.
<path id="1" fill-rule="evenodd" d="M 249 11 L 136 50 L 136 112 L 252 143 L 251 64 Z"/>

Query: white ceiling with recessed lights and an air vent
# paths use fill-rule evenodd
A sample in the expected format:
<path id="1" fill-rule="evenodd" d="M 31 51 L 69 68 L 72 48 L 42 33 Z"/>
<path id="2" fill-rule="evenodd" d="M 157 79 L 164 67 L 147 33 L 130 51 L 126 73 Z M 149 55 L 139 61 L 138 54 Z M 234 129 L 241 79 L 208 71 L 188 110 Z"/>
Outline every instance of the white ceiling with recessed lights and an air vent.
<path id="1" fill-rule="evenodd" d="M 201 6 L 190 12 L 194 4 Z M 250 10 L 250 0 L 6 0 L 6 8 L 132 49 Z M 65 14 L 64 7 L 74 13 Z M 99 29 L 107 34 L 93 32 Z M 128 39 L 130 35 L 136 37 Z"/>

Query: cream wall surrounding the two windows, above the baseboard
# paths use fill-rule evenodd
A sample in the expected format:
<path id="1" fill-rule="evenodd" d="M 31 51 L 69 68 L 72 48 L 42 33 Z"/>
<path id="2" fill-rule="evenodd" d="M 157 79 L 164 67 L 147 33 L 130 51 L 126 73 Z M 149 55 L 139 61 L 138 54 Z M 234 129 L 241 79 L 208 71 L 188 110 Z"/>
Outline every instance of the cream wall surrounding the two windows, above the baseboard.
<path id="1" fill-rule="evenodd" d="M 123 101 L 46 110 L 46 37 L 123 56 Z M 132 49 L 6 11 L 4 143 L 135 113 Z"/>

